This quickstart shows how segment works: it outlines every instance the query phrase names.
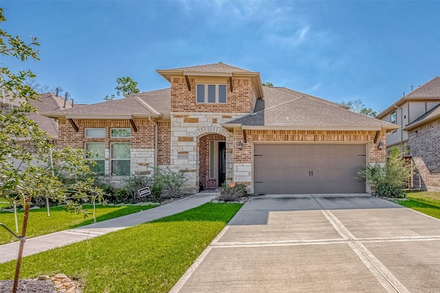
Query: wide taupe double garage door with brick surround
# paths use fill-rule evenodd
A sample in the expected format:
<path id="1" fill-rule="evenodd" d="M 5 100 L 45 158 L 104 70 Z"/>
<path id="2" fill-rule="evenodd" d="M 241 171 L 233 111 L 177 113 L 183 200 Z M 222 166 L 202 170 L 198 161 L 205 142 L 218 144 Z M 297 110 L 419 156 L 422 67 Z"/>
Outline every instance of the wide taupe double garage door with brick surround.
<path id="1" fill-rule="evenodd" d="M 255 194 L 364 193 L 365 145 L 255 144 Z"/>

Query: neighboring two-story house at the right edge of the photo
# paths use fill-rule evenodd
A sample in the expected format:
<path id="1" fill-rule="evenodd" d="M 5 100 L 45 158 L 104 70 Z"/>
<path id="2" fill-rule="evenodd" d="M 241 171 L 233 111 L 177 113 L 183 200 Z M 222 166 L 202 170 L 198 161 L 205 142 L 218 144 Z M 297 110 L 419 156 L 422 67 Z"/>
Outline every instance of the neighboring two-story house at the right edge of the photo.
<path id="1" fill-rule="evenodd" d="M 440 77 L 401 97 L 376 116 L 400 125 L 386 135 L 388 148 L 398 146 L 412 159 L 413 187 L 440 190 Z"/>

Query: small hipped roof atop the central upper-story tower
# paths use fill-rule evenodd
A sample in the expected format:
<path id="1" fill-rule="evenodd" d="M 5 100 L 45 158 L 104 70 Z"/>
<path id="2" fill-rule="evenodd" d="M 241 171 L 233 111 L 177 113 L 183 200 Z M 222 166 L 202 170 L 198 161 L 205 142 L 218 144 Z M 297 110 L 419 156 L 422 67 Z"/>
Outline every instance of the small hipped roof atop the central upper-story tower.
<path id="1" fill-rule="evenodd" d="M 248 71 L 239 67 L 225 64 L 223 62 L 192 67 L 180 67 L 175 69 L 157 69 L 156 71 L 162 75 L 163 78 L 168 80 L 168 82 L 171 81 L 172 75 L 223 76 L 229 78 L 245 76 L 251 78 L 257 97 L 263 97 L 263 86 L 261 85 L 261 77 L 259 72 Z"/>

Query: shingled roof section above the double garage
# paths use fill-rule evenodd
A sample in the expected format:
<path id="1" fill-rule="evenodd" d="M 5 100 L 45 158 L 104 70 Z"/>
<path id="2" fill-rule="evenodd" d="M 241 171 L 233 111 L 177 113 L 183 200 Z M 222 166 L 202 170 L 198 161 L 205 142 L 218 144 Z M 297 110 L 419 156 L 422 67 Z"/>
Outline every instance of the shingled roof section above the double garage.
<path id="1" fill-rule="evenodd" d="M 354 113 L 319 97 L 285 88 L 264 87 L 264 91 L 265 99 L 257 100 L 254 113 L 223 126 L 289 130 L 391 130 L 399 127 Z"/>

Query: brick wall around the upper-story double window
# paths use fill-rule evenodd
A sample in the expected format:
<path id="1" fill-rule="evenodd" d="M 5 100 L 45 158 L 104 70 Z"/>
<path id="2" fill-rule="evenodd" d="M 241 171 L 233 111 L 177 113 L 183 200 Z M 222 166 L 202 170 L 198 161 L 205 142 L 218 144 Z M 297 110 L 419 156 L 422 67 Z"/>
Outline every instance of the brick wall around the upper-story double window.
<path id="1" fill-rule="evenodd" d="M 195 79 L 189 78 L 188 91 L 184 76 L 171 78 L 171 112 L 249 113 L 252 109 L 252 82 L 250 78 L 233 79 L 232 88 L 228 80 L 226 104 L 197 104 Z"/>

